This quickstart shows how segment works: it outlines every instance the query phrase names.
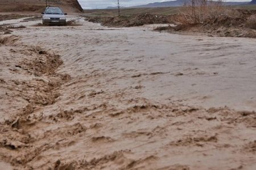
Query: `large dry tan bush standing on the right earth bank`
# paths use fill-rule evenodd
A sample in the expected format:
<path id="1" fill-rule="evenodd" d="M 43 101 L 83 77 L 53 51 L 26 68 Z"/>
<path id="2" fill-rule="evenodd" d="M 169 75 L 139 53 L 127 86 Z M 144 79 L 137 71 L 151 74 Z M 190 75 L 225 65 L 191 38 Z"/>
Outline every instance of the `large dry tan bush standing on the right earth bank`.
<path id="1" fill-rule="evenodd" d="M 202 24 L 218 18 L 224 11 L 222 0 L 195 0 L 195 8 L 192 7 L 191 3 L 182 8 L 177 20 L 182 24 Z"/>

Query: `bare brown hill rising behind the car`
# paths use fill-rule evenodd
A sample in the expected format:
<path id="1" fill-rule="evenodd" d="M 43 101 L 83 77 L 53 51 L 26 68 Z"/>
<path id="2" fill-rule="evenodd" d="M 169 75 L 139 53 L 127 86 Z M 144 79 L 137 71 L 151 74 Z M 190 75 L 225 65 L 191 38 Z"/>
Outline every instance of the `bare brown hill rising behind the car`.
<path id="1" fill-rule="evenodd" d="M 77 0 L 47 0 L 48 5 L 59 6 L 64 12 L 81 12 L 82 7 Z M 46 8 L 45 0 L 0 0 L 0 12 L 42 12 Z"/>

